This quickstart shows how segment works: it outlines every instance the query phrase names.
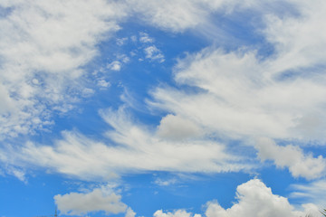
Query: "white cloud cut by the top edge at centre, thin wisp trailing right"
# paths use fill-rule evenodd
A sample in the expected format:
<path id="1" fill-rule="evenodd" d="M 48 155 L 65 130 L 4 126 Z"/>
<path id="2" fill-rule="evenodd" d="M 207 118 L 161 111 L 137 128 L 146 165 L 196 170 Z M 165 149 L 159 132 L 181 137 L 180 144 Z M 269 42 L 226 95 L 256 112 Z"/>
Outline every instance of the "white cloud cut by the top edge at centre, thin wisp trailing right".
<path id="1" fill-rule="evenodd" d="M 131 5 L 130 9 L 139 17 L 160 29 L 182 33 L 188 29 L 196 29 L 206 24 L 216 24 L 211 15 L 216 13 L 232 14 L 237 10 L 251 9 L 260 12 L 268 10 L 273 2 L 277 1 L 257 1 L 257 0 L 168 0 L 168 1 L 150 1 L 150 0 L 127 0 Z M 268 7 L 269 6 L 269 7 Z M 273 8 L 273 7 L 271 7 Z"/>

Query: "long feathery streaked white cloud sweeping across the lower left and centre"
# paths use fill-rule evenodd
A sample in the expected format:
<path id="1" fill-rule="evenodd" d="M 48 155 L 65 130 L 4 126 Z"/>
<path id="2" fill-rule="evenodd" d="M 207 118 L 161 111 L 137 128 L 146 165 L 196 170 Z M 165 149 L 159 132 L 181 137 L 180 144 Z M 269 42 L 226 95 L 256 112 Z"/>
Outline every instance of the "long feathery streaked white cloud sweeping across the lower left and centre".
<path id="1" fill-rule="evenodd" d="M 218 173 L 249 169 L 225 146 L 209 140 L 170 141 L 137 126 L 123 109 L 101 111 L 113 128 L 104 143 L 76 132 L 62 132 L 53 146 L 28 142 L 25 146 L 1 149 L 8 164 L 37 165 L 81 179 L 110 179 L 114 174 L 135 171 L 179 171 Z M 108 139 L 105 139 L 108 140 Z"/>

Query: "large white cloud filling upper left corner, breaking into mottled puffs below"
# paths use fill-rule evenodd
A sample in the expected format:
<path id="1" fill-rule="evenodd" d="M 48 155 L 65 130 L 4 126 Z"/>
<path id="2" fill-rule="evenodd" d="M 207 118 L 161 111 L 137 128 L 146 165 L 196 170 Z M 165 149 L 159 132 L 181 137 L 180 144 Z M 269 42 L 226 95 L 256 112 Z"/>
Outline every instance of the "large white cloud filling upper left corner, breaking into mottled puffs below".
<path id="1" fill-rule="evenodd" d="M 120 5 L 95 1 L 2 1 L 0 109 L 2 138 L 52 124 L 83 90 L 82 66 L 96 44 L 119 30 Z M 81 93 L 82 94 L 82 93 Z"/>

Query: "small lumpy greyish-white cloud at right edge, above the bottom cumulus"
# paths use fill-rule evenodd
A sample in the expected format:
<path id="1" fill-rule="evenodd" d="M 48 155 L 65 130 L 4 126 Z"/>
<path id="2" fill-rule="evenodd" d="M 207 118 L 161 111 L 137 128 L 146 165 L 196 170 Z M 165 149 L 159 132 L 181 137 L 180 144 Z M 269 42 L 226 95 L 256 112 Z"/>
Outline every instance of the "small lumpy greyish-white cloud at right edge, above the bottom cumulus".
<path id="1" fill-rule="evenodd" d="M 325 174 L 326 160 L 322 156 L 304 155 L 298 146 L 278 146 L 272 139 L 260 138 L 255 147 L 262 161 L 273 160 L 281 168 L 286 166 L 294 177 L 314 179 Z"/>

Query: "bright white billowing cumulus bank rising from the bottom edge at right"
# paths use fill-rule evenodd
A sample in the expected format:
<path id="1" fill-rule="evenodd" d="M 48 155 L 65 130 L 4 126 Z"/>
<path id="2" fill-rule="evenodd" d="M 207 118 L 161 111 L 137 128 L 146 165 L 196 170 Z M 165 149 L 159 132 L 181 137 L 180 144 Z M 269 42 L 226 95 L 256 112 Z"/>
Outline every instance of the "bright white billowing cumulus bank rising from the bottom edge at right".
<path id="1" fill-rule="evenodd" d="M 225 209 L 216 201 L 206 203 L 206 217 L 301 217 L 308 213 L 313 216 L 321 216 L 318 208 L 311 204 L 303 204 L 304 211 L 296 211 L 288 199 L 272 193 L 261 180 L 252 179 L 236 188 L 237 202 L 232 207 Z M 193 214 L 185 210 L 174 212 L 163 212 L 158 210 L 154 217 L 200 217 L 200 214 Z"/>

